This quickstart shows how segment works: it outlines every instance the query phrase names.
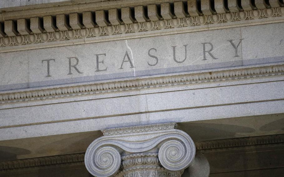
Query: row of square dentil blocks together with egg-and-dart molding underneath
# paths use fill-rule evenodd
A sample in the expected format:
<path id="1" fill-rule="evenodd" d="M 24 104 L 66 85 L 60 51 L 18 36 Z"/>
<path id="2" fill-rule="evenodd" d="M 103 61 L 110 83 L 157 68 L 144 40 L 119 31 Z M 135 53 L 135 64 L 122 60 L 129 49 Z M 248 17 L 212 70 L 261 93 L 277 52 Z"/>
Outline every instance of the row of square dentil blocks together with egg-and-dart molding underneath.
<path id="1" fill-rule="evenodd" d="M 242 1 L 238 6 L 201 0 L 201 7 L 194 0 L 159 2 L 158 6 L 112 7 L 95 12 L 69 13 L 66 9 L 56 16 L 6 20 L 4 30 L 0 24 L 0 53 L 284 22 L 284 4 L 274 1 L 253 1 L 247 6 L 247 1 Z"/>

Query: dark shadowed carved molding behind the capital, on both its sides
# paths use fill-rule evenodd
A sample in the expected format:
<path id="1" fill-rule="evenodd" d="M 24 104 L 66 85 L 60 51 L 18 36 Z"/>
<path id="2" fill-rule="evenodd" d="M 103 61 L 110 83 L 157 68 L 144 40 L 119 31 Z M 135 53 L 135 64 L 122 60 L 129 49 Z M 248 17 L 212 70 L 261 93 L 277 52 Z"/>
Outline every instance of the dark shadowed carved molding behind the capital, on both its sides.
<path id="1" fill-rule="evenodd" d="M 196 142 L 197 150 L 218 150 L 230 149 L 250 146 L 271 146 L 275 144 L 284 143 L 284 134 L 266 135 L 266 136 L 253 136 L 223 140 L 210 140 Z M 31 159 L 12 160 L 0 162 L 0 172 L 5 170 L 16 170 L 22 168 L 31 168 L 45 165 L 60 165 L 68 163 L 79 163 L 84 165 L 85 153 L 69 154 L 69 155 L 56 155 L 48 157 L 38 157 Z"/>

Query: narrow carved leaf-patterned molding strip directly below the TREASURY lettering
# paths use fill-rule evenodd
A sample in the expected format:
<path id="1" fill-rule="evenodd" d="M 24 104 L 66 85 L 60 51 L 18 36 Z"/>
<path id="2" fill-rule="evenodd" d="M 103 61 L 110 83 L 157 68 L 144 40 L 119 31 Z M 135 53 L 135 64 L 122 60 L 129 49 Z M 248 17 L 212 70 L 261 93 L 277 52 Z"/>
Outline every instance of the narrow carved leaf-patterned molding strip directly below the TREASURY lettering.
<path id="1" fill-rule="evenodd" d="M 0 104 L 124 92 L 137 89 L 264 78 L 284 74 L 284 65 L 261 66 L 195 74 L 181 74 L 0 94 Z"/>

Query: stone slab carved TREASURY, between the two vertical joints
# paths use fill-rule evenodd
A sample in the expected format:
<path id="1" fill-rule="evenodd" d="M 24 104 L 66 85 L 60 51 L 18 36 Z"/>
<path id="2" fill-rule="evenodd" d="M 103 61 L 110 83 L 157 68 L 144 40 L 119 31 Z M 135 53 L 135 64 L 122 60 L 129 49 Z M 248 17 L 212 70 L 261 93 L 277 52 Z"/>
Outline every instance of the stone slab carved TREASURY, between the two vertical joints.
<path id="1" fill-rule="evenodd" d="M 111 32 L 111 28 L 107 29 Z M 221 34 L 223 37 L 219 38 Z M 62 37 L 60 32 L 54 35 L 58 40 Z M 206 32 L 188 33 L 31 50 L 27 51 L 29 68 L 21 68 L 30 70 L 31 87 L 230 68 L 242 65 L 242 45 L 236 52 L 228 40 L 233 40 L 236 47 L 240 39 L 238 29 L 212 31 L 210 36 Z M 149 43 L 151 45 L 147 45 Z M 6 77 L 11 79 L 12 76 Z"/>

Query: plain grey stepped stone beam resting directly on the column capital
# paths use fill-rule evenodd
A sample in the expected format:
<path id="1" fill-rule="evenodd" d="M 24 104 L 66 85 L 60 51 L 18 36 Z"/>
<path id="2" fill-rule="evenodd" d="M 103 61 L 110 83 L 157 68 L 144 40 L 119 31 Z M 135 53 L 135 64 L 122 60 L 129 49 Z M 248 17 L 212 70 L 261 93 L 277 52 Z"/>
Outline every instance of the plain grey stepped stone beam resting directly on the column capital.
<path id="1" fill-rule="evenodd" d="M 259 71 L 261 70 L 254 72 Z M 189 122 L 278 114 L 284 111 L 283 95 L 278 94 L 284 88 L 283 81 L 279 81 L 281 78 L 281 75 L 243 80 L 233 77 L 224 82 L 219 79 L 216 83 L 208 84 L 166 84 L 162 88 L 150 85 L 152 89 L 128 88 L 125 92 L 90 96 L 81 93 L 81 97 L 74 97 L 70 93 L 70 97 L 65 99 L 1 105 L 1 138 L 7 140 L 87 132 L 100 130 L 102 127 L 131 126 L 136 122 L 166 122 L 173 117 L 177 122 Z M 149 79 L 149 84 L 150 81 Z M 55 98 L 58 97 L 55 94 Z"/>

